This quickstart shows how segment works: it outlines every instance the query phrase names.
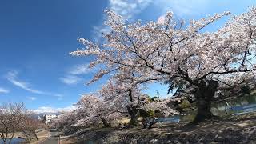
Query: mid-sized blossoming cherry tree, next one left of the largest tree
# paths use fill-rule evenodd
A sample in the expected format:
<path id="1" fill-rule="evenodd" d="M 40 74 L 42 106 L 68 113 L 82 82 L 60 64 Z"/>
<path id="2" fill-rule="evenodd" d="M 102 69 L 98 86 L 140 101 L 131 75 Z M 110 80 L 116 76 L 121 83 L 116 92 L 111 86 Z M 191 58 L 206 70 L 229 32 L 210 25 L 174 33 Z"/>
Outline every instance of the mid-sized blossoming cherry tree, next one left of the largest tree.
<path id="1" fill-rule="evenodd" d="M 130 126 L 137 126 L 140 110 L 147 102 L 147 97 L 141 92 L 145 88 L 142 84 L 152 80 L 143 78 L 133 69 L 122 68 L 100 92 L 106 102 L 114 103 L 114 109 L 126 111 L 130 115 Z"/>

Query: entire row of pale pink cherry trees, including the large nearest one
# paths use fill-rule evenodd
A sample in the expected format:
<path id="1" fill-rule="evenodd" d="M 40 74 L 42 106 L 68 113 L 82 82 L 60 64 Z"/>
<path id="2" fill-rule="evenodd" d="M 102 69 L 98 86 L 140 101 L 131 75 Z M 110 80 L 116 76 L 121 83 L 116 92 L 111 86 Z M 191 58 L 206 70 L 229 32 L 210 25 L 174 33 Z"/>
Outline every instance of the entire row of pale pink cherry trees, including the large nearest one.
<path id="1" fill-rule="evenodd" d="M 141 90 L 151 82 L 169 84 L 169 91 L 178 94 L 192 94 L 198 110 L 194 122 L 211 118 L 210 102 L 216 91 L 244 85 L 256 70 L 256 8 L 233 16 L 214 32 L 205 30 L 229 15 L 185 22 L 168 12 L 158 22 L 131 23 L 106 10 L 109 32 L 102 34 L 102 44 L 78 38 L 85 47 L 70 53 L 93 59 L 90 68 L 101 67 L 91 82 L 110 75 L 102 90 L 78 102 L 77 112 L 84 116 L 78 122 L 102 120 L 107 126 L 111 118 L 127 113 L 130 124 L 136 125 L 143 108 L 177 114 L 168 99 L 145 102 Z"/>

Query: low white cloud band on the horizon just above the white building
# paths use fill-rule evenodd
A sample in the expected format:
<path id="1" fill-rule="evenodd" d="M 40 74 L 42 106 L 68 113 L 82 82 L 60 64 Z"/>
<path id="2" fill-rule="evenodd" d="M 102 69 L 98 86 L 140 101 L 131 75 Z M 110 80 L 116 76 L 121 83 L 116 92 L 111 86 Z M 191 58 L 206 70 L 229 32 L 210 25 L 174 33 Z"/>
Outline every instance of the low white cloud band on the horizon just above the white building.
<path id="1" fill-rule="evenodd" d="M 67 106 L 63 108 L 54 108 L 50 106 L 42 106 L 38 107 L 37 110 L 31 110 L 34 113 L 41 114 L 41 113 L 58 113 L 58 112 L 67 112 L 67 111 L 72 111 L 75 110 L 75 106 Z"/>

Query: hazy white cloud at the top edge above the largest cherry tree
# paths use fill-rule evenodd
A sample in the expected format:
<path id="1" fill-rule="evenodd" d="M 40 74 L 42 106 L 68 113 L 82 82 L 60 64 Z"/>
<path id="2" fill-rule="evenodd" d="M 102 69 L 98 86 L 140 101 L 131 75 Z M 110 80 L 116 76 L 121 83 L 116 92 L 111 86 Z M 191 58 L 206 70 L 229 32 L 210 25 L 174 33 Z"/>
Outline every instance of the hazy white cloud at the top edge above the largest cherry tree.
<path id="1" fill-rule="evenodd" d="M 166 14 L 166 11 L 174 11 L 175 15 L 185 17 L 201 14 L 210 6 L 207 0 L 109 0 L 108 9 L 114 10 L 125 19 L 134 19 L 137 14 L 143 13 L 148 6 L 153 6 L 159 15 Z M 102 19 L 104 20 L 104 16 Z M 95 42 L 101 42 L 102 33 L 107 33 L 109 29 L 105 25 L 93 26 Z"/>

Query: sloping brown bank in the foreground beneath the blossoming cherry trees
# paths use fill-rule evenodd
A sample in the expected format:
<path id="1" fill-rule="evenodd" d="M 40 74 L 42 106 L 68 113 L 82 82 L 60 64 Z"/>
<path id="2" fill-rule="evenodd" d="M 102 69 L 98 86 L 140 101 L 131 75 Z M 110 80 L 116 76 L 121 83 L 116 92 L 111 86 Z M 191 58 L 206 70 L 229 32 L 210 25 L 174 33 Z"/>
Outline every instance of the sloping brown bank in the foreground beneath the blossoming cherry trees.
<path id="1" fill-rule="evenodd" d="M 87 128 L 69 138 L 77 139 L 78 143 L 255 143 L 256 113 L 213 118 L 197 126 L 172 123 L 155 125 L 150 130 L 141 127 L 122 130 Z"/>

